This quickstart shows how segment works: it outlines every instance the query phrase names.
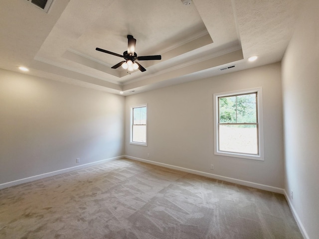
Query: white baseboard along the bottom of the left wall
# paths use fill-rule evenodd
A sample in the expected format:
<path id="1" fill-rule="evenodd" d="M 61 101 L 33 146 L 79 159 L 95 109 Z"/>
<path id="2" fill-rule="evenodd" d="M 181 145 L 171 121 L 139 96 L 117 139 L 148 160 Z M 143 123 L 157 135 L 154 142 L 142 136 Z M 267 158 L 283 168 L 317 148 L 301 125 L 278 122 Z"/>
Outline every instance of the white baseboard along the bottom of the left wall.
<path id="1" fill-rule="evenodd" d="M 122 155 L 122 156 L 117 156 L 117 157 L 113 157 L 113 158 L 103 159 L 103 160 L 99 160 L 99 161 L 95 161 L 95 162 L 91 162 L 91 163 L 86 163 L 86 164 L 81 164 L 81 165 L 70 167 L 70 168 L 60 169 L 60 170 L 53 171 L 53 172 L 43 173 L 43 174 L 39 174 L 39 175 L 27 177 L 27 178 L 22 178 L 22 179 L 18 179 L 18 180 L 7 182 L 7 183 L 2 183 L 2 184 L 0 184 L 0 189 L 12 187 L 12 186 L 19 185 L 19 184 L 22 184 L 22 183 L 28 183 L 28 182 L 31 182 L 31 181 L 34 181 L 34 180 L 37 180 L 37 179 L 42 179 L 42 178 L 46 178 L 46 177 L 50 177 L 50 176 L 54 176 L 54 175 L 58 175 L 58 174 L 62 174 L 62 173 L 72 172 L 72 171 L 75 171 L 75 170 L 91 167 L 91 166 L 94 166 L 94 165 L 98 165 L 98 164 L 101 164 L 101 163 L 105 163 L 105 162 L 109 162 L 109 161 L 112 161 L 112 160 L 120 159 L 120 158 L 123 158 L 123 157 L 124 156 Z"/>

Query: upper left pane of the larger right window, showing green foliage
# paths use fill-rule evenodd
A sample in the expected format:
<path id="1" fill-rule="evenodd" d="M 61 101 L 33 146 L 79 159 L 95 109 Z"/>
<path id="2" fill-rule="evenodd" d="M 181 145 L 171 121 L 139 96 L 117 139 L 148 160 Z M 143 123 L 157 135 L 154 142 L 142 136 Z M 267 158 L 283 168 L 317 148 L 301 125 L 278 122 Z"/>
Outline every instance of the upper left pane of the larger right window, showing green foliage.
<path id="1" fill-rule="evenodd" d="M 220 97 L 219 122 L 236 123 L 236 96 Z"/>

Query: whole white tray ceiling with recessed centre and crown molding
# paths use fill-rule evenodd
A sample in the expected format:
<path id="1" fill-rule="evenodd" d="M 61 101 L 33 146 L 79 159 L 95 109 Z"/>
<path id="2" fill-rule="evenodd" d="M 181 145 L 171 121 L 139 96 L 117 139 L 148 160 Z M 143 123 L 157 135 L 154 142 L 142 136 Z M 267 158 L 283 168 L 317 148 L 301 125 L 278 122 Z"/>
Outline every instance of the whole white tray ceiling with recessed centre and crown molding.
<path id="1" fill-rule="evenodd" d="M 282 59 L 305 0 L 27 0 L 0 2 L 0 68 L 124 95 Z M 147 71 L 111 67 L 137 39 Z M 247 61 L 252 55 L 259 58 Z M 225 66 L 234 68 L 220 71 Z M 134 93 L 133 93 L 134 91 Z"/>

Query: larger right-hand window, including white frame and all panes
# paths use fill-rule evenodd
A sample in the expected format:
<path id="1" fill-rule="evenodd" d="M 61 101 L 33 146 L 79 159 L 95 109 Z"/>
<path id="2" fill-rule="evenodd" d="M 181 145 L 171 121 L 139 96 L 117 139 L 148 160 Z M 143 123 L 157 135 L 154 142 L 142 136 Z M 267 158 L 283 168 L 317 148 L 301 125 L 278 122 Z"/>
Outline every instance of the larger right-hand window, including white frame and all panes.
<path id="1" fill-rule="evenodd" d="M 214 94 L 215 154 L 263 160 L 261 88 Z"/>

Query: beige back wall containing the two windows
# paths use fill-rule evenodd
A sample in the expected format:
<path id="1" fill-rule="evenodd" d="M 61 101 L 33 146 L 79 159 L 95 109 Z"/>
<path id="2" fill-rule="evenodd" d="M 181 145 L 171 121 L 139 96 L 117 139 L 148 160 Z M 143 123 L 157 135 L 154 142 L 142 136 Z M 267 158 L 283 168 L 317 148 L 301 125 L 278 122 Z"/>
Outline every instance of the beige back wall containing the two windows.
<path id="1" fill-rule="evenodd" d="M 214 155 L 213 94 L 255 87 L 263 90 L 265 161 Z M 144 103 L 148 104 L 148 146 L 129 144 L 130 107 Z M 281 65 L 276 63 L 126 97 L 125 152 L 282 189 L 282 120 Z"/>

